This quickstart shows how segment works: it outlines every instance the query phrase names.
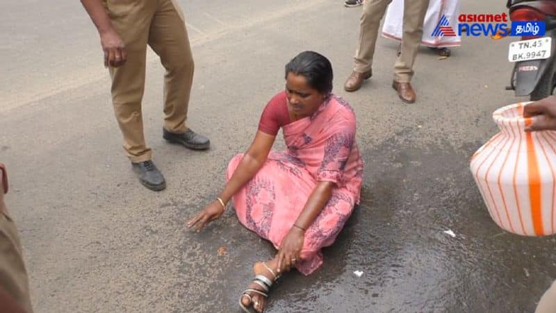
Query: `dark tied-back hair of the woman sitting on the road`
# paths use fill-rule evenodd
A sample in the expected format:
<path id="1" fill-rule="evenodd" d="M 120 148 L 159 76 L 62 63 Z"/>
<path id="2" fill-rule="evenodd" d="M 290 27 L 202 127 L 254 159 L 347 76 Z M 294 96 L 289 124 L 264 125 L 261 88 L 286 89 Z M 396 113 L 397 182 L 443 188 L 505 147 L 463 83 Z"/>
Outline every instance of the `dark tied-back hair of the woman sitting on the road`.
<path id="1" fill-rule="evenodd" d="M 286 64 L 286 78 L 288 73 L 304 76 L 307 83 L 321 94 L 332 92 L 332 64 L 319 53 L 304 51 L 298 54 Z"/>

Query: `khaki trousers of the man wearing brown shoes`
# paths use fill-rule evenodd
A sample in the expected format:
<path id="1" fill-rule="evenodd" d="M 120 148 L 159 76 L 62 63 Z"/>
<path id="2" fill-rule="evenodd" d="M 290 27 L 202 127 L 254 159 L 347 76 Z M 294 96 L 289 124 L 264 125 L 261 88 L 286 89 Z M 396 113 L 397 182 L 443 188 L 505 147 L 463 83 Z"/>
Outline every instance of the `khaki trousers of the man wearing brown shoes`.
<path id="1" fill-rule="evenodd" d="M 429 1 L 407 0 L 404 3 L 402 53 L 394 65 L 394 81 L 400 83 L 411 81 L 414 74 L 413 65 L 423 37 L 423 21 Z M 363 4 L 354 71 L 363 73 L 370 71 L 373 66 L 380 20 L 384 17 L 384 12 L 391 2 L 392 0 L 367 0 Z"/>

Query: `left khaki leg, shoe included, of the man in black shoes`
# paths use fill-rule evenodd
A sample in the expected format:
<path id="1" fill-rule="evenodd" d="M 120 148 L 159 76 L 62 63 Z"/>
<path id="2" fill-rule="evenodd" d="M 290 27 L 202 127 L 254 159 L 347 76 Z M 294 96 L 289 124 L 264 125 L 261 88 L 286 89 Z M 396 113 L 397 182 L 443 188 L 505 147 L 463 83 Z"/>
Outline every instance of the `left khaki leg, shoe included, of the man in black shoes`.
<path id="1" fill-rule="evenodd" d="M 149 27 L 156 12 L 156 1 L 134 1 L 133 8 L 127 2 L 111 3 L 115 4 L 109 5 L 108 10 L 127 53 L 124 65 L 110 68 L 112 101 L 124 136 L 124 149 L 140 182 L 149 189 L 162 190 L 166 183 L 151 161 L 152 151 L 145 143 L 141 112 Z"/>

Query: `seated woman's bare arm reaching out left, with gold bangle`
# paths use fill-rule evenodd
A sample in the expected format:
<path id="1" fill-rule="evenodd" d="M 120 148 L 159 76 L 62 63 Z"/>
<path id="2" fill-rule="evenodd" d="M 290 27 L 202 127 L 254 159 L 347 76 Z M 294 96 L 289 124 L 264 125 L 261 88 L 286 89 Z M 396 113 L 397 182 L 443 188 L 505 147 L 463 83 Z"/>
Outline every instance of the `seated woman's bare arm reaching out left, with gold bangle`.
<path id="1" fill-rule="evenodd" d="M 241 159 L 236 171 L 231 176 L 229 182 L 224 187 L 224 191 L 220 194 L 220 203 L 215 199 L 208 203 L 206 207 L 197 214 L 193 219 L 188 221 L 187 227 L 197 226 L 197 231 L 201 231 L 208 223 L 218 219 L 224 213 L 224 207 L 229 199 L 236 194 L 253 176 L 261 169 L 272 149 L 276 136 L 257 131 L 255 139 L 250 148 L 247 149 L 245 155 Z"/>

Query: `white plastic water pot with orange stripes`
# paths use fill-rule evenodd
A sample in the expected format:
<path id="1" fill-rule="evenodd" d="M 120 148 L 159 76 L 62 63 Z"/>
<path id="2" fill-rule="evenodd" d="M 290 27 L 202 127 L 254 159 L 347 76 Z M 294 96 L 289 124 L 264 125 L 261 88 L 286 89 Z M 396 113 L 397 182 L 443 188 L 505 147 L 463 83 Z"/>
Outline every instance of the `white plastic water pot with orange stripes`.
<path id="1" fill-rule="evenodd" d="M 492 219 L 518 235 L 555 233 L 556 131 L 525 133 L 532 118 L 517 103 L 493 119 L 500 133 L 471 158 L 471 172 Z"/>

